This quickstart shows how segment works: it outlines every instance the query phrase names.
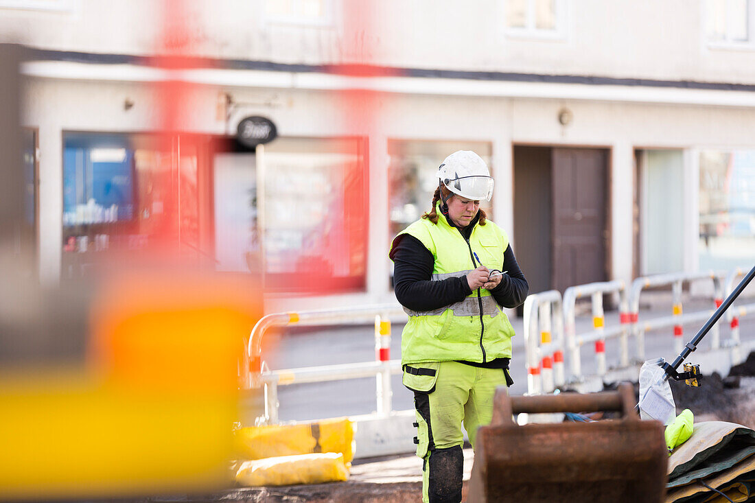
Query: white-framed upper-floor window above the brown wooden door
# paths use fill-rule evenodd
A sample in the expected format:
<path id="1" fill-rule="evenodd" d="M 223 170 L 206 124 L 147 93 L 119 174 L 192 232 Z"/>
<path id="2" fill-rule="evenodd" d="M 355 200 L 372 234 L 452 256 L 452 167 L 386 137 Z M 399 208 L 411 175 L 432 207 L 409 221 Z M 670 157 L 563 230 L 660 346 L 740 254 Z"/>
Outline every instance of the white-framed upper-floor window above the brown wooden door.
<path id="1" fill-rule="evenodd" d="M 504 0 L 508 35 L 560 37 L 564 29 L 564 0 Z"/>

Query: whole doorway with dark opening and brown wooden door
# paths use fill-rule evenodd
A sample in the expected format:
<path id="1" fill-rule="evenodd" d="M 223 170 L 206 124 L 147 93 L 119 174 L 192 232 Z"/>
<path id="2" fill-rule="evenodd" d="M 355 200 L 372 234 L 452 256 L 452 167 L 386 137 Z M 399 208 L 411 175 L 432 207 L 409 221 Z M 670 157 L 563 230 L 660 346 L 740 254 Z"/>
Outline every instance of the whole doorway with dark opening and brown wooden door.
<path id="1" fill-rule="evenodd" d="M 530 292 L 608 277 L 609 150 L 516 146 L 516 257 Z"/>

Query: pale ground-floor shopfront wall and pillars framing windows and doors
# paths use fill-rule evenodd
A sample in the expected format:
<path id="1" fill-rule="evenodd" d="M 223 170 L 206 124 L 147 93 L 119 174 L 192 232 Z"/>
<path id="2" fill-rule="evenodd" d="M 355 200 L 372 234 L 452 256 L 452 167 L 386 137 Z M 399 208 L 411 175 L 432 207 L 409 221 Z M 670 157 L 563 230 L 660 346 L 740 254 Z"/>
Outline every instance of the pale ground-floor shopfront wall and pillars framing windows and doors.
<path id="1" fill-rule="evenodd" d="M 217 95 L 230 92 L 238 106 L 227 125 L 217 117 Z M 266 88 L 202 87 L 190 107 L 187 130 L 221 134 L 233 131 L 242 116 L 259 114 L 276 122 L 281 136 L 328 137 L 353 134 L 344 120 L 337 93 Z M 125 110 L 126 98 L 134 101 Z M 24 125 L 39 128 L 40 262 L 42 279 L 60 277 L 63 131 L 153 131 L 154 97 L 146 86 L 122 82 L 73 82 L 29 79 Z M 563 107 L 573 120 L 557 121 Z M 387 140 L 474 140 L 493 145 L 496 177 L 494 220 L 513 233 L 512 145 L 593 146 L 610 149 L 611 245 L 614 279 L 631 279 L 633 149 L 668 147 L 685 156 L 685 268 L 697 265 L 695 198 L 696 148 L 755 148 L 750 131 L 755 109 L 546 100 L 507 97 L 451 97 L 382 94 L 375 107 L 369 149 L 370 205 L 367 292 L 322 297 L 271 297 L 267 311 L 392 302 L 387 282 Z M 428 196 L 429 197 L 429 196 Z M 516 249 L 516 236 L 512 236 Z M 526 271 L 525 271 L 526 272 Z M 292 305 L 294 304 L 294 305 Z"/>

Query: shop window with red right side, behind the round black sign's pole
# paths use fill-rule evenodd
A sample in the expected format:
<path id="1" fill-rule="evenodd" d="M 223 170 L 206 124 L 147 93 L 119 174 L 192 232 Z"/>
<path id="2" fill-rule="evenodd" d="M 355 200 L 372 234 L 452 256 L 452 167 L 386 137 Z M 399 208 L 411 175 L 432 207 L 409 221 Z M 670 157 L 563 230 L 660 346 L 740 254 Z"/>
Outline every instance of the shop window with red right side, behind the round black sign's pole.
<path id="1" fill-rule="evenodd" d="M 254 153 L 216 153 L 217 269 L 263 269 L 270 291 L 365 289 L 364 143 L 289 137 L 265 145 L 260 159 Z"/>

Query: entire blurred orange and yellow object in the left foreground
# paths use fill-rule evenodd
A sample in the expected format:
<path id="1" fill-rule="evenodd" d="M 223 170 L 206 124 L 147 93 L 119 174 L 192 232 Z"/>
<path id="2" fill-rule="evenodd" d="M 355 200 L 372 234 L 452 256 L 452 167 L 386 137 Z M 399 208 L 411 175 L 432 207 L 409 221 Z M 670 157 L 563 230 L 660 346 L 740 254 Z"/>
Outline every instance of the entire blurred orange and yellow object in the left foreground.
<path id="1" fill-rule="evenodd" d="M 226 485 L 239 341 L 260 316 L 251 286 L 155 273 L 107 282 L 87 369 L 0 376 L 0 499 Z"/>

